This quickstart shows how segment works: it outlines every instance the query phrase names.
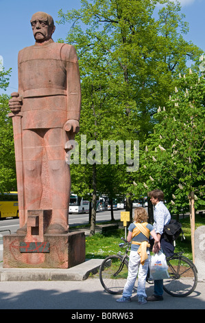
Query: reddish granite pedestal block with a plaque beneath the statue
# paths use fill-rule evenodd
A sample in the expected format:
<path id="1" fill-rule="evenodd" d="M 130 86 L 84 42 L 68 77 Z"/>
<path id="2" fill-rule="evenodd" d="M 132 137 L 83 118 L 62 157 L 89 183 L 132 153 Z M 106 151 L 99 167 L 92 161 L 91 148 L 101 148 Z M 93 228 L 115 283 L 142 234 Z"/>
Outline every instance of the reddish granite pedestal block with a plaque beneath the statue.
<path id="1" fill-rule="evenodd" d="M 84 232 L 47 234 L 49 210 L 30 211 L 27 234 L 3 237 L 4 268 L 67 269 L 85 261 Z"/>

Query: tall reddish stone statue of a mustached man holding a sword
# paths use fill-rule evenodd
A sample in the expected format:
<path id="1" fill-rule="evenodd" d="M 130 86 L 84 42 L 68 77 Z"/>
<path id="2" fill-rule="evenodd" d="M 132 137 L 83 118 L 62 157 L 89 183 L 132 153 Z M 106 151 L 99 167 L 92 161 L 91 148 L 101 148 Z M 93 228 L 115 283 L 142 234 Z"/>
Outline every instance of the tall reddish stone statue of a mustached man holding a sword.
<path id="1" fill-rule="evenodd" d="M 36 43 L 19 52 L 19 91 L 9 105 L 14 127 L 20 229 L 29 210 L 51 210 L 47 234 L 68 232 L 71 179 L 66 153 L 79 131 L 80 73 L 73 45 L 54 43 L 53 19 L 36 12 Z M 20 118 L 17 118 L 20 117 Z"/>

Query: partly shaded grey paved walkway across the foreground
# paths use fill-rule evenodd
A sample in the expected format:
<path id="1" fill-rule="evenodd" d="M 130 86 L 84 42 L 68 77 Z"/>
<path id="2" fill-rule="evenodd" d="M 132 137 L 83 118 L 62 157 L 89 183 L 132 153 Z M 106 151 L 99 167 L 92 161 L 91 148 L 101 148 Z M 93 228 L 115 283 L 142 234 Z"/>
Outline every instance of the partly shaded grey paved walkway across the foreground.
<path id="1" fill-rule="evenodd" d="M 147 284 L 146 292 L 147 296 L 152 295 L 153 286 Z M 117 298 L 119 296 L 106 293 L 97 278 L 67 282 L 0 282 L 0 309 L 70 309 L 67 319 L 71 318 L 69 313 L 95 313 L 94 310 L 132 313 L 138 309 L 205 309 L 205 283 L 198 283 L 186 298 L 173 298 L 164 293 L 163 301 L 144 305 L 138 305 L 136 293 L 130 303 L 118 303 Z"/>

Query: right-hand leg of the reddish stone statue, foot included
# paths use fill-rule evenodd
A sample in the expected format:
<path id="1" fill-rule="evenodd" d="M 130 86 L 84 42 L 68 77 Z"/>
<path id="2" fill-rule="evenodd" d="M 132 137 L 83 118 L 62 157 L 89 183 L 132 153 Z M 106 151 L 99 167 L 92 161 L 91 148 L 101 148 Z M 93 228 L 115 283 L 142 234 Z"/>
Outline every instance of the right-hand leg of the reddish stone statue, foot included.
<path id="1" fill-rule="evenodd" d="M 49 170 L 49 194 L 52 219 L 47 233 L 67 233 L 71 176 L 65 161 L 64 136 L 60 128 L 49 129 L 45 134 L 45 148 Z"/>

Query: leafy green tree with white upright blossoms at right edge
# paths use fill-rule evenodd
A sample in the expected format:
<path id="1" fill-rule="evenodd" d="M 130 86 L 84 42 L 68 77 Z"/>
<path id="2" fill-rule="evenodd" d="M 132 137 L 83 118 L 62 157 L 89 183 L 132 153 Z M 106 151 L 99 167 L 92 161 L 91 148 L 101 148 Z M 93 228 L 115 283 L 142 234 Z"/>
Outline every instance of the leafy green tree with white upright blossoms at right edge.
<path id="1" fill-rule="evenodd" d="M 205 80 L 197 73 L 180 76 L 158 123 L 141 152 L 141 183 L 136 190 L 164 190 L 169 209 L 180 214 L 189 209 L 191 192 L 195 208 L 205 205 L 204 104 Z"/>

